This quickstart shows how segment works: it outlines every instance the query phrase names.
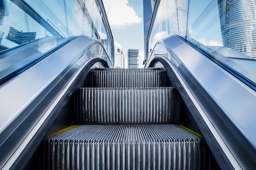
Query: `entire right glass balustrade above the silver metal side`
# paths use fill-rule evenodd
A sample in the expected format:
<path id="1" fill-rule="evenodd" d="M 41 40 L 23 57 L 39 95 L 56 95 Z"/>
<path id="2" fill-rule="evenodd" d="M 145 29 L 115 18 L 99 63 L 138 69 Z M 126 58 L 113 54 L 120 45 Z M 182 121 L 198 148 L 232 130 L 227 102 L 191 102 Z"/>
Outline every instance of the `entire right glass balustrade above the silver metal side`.
<path id="1" fill-rule="evenodd" d="M 159 6 L 148 39 L 148 57 L 158 40 L 179 35 L 256 83 L 255 0 L 157 2 Z"/>

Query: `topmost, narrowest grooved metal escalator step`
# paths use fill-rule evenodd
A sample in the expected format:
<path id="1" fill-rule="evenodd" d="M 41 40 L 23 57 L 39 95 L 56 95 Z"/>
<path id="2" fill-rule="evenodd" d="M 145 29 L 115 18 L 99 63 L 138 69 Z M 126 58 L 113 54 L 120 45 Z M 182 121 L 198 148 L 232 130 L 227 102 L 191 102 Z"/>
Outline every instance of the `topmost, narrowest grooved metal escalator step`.
<path id="1" fill-rule="evenodd" d="M 89 87 L 165 87 L 166 70 L 160 68 L 101 68 L 90 70 Z"/>

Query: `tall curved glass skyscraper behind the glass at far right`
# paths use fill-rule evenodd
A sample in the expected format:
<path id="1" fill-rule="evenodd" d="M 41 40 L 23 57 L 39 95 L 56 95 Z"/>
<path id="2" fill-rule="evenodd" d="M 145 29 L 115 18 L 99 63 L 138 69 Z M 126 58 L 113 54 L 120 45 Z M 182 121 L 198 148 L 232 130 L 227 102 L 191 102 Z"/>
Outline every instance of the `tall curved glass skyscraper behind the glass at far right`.
<path id="1" fill-rule="evenodd" d="M 255 0 L 218 0 L 223 46 L 256 58 Z"/>

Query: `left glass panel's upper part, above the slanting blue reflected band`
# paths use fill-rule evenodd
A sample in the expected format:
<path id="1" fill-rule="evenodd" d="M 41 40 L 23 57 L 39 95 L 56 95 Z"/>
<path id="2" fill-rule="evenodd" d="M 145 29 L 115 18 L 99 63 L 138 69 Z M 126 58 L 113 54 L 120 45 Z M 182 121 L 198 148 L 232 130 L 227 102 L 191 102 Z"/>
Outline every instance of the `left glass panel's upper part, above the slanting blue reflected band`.
<path id="1" fill-rule="evenodd" d="M 110 33 L 97 0 L 4 0 L 0 10 L 0 50 L 45 37 L 88 35 L 103 43 L 111 59 Z"/>

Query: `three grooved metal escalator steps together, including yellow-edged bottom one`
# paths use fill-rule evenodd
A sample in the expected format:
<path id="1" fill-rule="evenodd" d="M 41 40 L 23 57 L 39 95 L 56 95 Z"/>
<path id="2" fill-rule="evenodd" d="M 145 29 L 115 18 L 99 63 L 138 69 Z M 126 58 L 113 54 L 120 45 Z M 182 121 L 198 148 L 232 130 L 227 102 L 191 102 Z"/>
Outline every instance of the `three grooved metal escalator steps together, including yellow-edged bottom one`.
<path id="1" fill-rule="evenodd" d="M 45 137 L 43 169 L 207 169 L 202 135 L 182 126 L 166 70 L 94 69 L 74 93 L 74 125 Z M 206 155 L 208 153 L 208 155 Z"/>

